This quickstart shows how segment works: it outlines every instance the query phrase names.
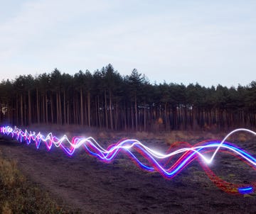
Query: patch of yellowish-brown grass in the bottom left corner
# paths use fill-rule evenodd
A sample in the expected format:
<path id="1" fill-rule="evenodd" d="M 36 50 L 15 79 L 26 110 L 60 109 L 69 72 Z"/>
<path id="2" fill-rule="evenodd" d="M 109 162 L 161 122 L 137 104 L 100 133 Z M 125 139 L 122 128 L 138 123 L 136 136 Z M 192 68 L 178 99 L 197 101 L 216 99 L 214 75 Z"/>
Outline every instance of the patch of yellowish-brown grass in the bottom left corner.
<path id="1" fill-rule="evenodd" d="M 47 192 L 31 184 L 16 162 L 4 159 L 0 150 L 0 213 L 73 213 L 61 208 Z"/>

